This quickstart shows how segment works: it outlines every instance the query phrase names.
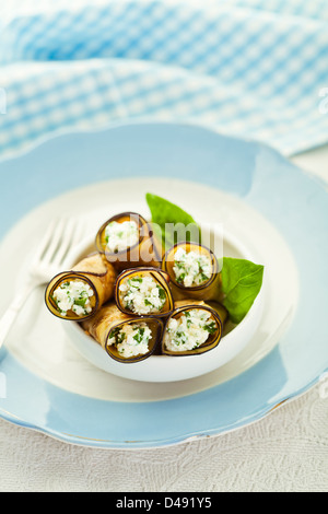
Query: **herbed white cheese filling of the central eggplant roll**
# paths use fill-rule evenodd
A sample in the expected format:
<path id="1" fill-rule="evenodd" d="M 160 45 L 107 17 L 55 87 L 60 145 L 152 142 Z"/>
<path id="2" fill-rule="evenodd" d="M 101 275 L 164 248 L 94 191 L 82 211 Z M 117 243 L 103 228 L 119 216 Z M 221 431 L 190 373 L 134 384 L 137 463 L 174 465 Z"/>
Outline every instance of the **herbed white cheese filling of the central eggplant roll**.
<path id="1" fill-rule="evenodd" d="M 164 289 L 149 276 L 134 276 L 124 281 L 119 291 L 122 293 L 122 306 L 136 314 L 159 313 L 166 301 Z"/>

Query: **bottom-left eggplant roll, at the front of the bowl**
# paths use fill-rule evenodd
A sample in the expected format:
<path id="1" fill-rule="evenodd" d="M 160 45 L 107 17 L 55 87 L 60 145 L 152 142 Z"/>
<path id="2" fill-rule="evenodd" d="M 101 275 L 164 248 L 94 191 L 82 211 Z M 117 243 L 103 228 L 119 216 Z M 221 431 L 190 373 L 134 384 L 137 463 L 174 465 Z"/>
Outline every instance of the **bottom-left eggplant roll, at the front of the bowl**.
<path id="1" fill-rule="evenodd" d="M 124 314 L 112 302 L 82 322 L 84 330 L 119 362 L 139 362 L 149 358 L 163 335 L 162 319 Z"/>

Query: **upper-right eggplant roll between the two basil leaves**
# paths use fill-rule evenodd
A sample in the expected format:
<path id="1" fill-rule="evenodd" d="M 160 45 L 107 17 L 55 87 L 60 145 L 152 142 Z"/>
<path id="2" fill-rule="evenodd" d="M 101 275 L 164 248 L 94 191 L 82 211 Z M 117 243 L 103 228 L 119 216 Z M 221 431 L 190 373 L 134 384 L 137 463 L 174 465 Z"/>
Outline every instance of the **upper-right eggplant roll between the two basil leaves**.
<path id="1" fill-rule="evenodd" d="M 219 297 L 221 274 L 214 254 L 196 243 L 177 243 L 163 257 L 162 269 L 169 276 L 175 300 Z"/>

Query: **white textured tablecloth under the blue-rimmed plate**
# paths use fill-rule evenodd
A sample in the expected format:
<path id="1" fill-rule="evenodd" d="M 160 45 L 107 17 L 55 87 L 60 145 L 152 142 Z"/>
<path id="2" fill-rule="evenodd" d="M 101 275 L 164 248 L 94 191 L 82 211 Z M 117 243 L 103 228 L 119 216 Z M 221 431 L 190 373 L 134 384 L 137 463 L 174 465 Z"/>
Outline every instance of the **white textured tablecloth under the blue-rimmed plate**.
<path id="1" fill-rule="evenodd" d="M 328 147 L 292 161 L 328 182 Z M 327 492 L 327 429 L 325 377 L 249 427 L 160 449 L 74 446 L 0 420 L 0 491 Z"/>

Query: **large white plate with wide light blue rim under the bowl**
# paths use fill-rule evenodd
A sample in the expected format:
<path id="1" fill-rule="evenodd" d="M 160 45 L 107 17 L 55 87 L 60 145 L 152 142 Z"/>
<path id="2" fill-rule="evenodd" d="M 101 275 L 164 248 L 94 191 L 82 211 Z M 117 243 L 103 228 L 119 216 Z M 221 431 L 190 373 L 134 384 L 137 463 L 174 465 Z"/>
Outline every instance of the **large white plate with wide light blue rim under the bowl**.
<path id="1" fill-rule="evenodd" d="M 211 373 L 165 384 L 94 366 L 37 291 L 0 351 L 2 418 L 74 444 L 165 446 L 254 422 L 328 370 L 327 190 L 270 148 L 196 126 L 134 122 L 45 141 L 3 161 L 0 180 L 0 313 L 55 214 L 83 217 L 90 234 L 114 211 L 147 214 L 145 191 L 223 223 L 266 266 L 250 343 Z"/>

